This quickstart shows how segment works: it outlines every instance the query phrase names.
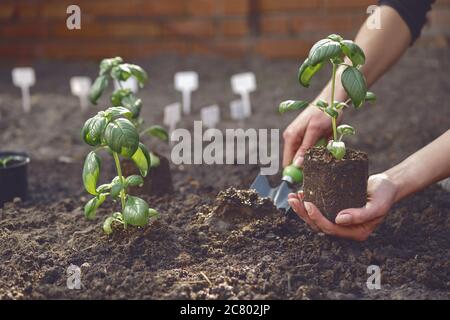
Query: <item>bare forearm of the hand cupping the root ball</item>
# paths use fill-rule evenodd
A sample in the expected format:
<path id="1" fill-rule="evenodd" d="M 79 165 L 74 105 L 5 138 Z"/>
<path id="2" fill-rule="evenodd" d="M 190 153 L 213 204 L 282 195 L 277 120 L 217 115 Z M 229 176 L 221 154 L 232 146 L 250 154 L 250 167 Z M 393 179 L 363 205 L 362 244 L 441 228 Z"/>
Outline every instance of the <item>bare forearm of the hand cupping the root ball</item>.
<path id="1" fill-rule="evenodd" d="M 395 202 L 450 176 L 450 130 L 384 174 L 396 187 Z"/>

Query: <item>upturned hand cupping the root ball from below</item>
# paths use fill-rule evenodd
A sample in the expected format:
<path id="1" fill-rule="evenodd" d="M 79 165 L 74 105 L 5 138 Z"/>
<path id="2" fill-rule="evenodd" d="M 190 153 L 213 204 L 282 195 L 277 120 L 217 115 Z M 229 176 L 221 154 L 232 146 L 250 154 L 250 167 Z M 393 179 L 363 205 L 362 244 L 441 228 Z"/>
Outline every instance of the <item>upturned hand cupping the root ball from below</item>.
<path id="1" fill-rule="evenodd" d="M 378 227 L 395 202 L 397 187 L 385 174 L 369 177 L 367 203 L 362 208 L 344 209 L 335 223 L 325 218 L 311 202 L 303 202 L 303 193 L 289 194 L 288 202 L 297 215 L 313 230 L 357 241 L 366 240 Z"/>

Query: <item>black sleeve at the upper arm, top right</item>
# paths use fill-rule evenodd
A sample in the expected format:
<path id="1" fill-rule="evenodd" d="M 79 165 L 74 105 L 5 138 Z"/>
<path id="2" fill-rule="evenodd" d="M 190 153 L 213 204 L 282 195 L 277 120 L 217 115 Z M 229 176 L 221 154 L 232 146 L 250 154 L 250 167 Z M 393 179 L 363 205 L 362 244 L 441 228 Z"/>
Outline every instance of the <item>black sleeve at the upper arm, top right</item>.
<path id="1" fill-rule="evenodd" d="M 435 0 L 379 0 L 379 5 L 387 5 L 394 8 L 411 30 L 412 41 L 420 36 L 423 26 L 427 21 L 427 13 Z"/>

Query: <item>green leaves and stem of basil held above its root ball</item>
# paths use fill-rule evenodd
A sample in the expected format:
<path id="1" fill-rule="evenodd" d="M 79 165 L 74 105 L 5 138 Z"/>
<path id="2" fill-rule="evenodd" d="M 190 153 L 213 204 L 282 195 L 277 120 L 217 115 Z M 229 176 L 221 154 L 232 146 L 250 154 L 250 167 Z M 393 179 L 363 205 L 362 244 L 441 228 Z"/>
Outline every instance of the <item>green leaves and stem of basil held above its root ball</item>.
<path id="1" fill-rule="evenodd" d="M 344 61 L 347 57 L 349 63 Z M 345 156 L 345 143 L 342 138 L 346 135 L 354 135 L 355 129 L 349 125 L 337 126 L 339 111 L 348 107 L 350 101 L 353 107 L 360 108 L 364 102 L 375 102 L 376 96 L 367 91 L 366 80 L 360 71 L 365 63 L 363 50 L 353 41 L 344 40 L 337 34 L 329 35 L 319 40 L 311 48 L 308 57 L 299 68 L 298 81 L 304 87 L 309 87 L 312 77 L 323 68 L 326 63 L 332 66 L 331 74 L 331 99 L 330 101 L 318 100 L 314 105 L 331 118 L 333 139 L 328 142 L 326 148 L 337 160 Z M 341 83 L 349 100 L 345 102 L 335 101 L 336 73 L 338 68 L 343 68 Z M 280 103 L 280 113 L 292 110 L 303 110 L 311 103 L 302 100 L 286 100 Z"/>

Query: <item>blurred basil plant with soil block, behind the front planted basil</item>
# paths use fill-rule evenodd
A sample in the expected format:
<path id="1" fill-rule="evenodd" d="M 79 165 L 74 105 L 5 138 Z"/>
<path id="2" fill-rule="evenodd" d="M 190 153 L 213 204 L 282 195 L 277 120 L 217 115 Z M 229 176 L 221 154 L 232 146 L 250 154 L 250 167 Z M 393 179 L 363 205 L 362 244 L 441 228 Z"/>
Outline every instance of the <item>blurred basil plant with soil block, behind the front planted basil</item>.
<path id="1" fill-rule="evenodd" d="M 121 57 L 103 59 L 99 67 L 99 75 L 94 81 L 89 98 L 93 104 L 97 104 L 101 95 L 108 87 L 110 81 L 117 81 L 119 89 L 113 91 L 110 101 L 113 107 L 123 107 L 130 111 L 130 121 L 136 127 L 140 137 L 150 135 L 163 141 L 168 141 L 169 136 L 159 125 L 144 127 L 144 120 L 140 116 L 142 100 L 130 90 L 122 87 L 122 81 L 134 77 L 139 87 L 144 87 L 148 80 L 147 73 L 140 66 L 125 63 Z M 161 195 L 173 192 L 172 176 L 169 161 L 154 152 L 149 152 L 151 158 L 150 173 L 144 177 L 141 189 L 130 187 L 132 192 L 141 192 L 148 195 Z M 139 173 L 133 162 L 129 159 L 123 161 L 125 175 Z"/>

